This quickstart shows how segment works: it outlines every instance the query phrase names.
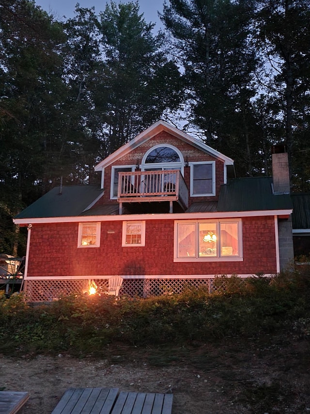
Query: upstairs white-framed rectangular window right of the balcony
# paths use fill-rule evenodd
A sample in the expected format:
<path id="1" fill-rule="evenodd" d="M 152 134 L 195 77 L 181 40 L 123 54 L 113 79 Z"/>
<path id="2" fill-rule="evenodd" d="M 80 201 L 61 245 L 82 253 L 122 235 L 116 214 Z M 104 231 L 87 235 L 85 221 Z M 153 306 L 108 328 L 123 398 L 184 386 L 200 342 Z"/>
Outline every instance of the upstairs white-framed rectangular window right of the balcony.
<path id="1" fill-rule="evenodd" d="M 192 162 L 190 166 L 190 196 L 215 196 L 215 161 Z"/>

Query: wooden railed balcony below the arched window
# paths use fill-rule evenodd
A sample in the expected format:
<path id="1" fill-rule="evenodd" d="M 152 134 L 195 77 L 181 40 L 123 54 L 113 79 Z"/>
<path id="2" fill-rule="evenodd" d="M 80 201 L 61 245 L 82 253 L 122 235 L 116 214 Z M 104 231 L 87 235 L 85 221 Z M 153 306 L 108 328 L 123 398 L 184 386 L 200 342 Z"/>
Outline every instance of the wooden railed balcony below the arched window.
<path id="1" fill-rule="evenodd" d="M 117 199 L 120 214 L 123 203 L 163 201 L 169 201 L 172 213 L 173 202 L 188 208 L 188 188 L 179 170 L 120 172 Z"/>

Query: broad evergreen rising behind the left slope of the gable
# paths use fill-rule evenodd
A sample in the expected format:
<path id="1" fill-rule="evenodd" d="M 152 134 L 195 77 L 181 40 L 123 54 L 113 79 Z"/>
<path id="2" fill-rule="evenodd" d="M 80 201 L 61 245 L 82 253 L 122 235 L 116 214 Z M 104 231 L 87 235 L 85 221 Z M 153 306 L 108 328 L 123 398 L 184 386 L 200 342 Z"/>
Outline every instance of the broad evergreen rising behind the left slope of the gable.
<path id="1" fill-rule="evenodd" d="M 181 83 L 177 66 L 161 50 L 162 36 L 152 33 L 138 2 L 111 2 L 100 17 L 105 59 L 95 104 L 108 155 L 165 110 L 177 109 Z"/>

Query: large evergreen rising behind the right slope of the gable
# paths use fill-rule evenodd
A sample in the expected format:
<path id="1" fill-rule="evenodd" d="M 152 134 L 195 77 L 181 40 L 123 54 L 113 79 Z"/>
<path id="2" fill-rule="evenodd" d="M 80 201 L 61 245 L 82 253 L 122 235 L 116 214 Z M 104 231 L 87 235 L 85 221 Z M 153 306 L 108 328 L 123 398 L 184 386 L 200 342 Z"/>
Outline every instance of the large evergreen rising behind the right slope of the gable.
<path id="1" fill-rule="evenodd" d="M 203 130 L 209 145 L 230 156 L 240 145 L 248 157 L 257 150 L 250 148 L 255 142 L 245 113 L 255 95 L 257 65 L 249 43 L 251 5 L 242 0 L 171 0 L 161 16 L 184 70 L 191 123 Z M 244 142 L 231 136 L 236 123 L 248 130 Z M 252 173 L 250 158 L 245 169 Z"/>

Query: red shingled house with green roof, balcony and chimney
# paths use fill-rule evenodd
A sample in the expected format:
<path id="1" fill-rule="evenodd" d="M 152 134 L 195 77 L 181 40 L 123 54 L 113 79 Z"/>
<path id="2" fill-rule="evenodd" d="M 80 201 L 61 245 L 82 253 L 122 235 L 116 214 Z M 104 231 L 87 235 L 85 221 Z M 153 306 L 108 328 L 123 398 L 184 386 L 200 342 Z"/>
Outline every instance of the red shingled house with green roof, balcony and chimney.
<path id="1" fill-rule="evenodd" d="M 28 227 L 31 301 L 114 275 L 131 296 L 211 289 L 215 275 L 268 276 L 293 260 L 285 152 L 273 179 L 230 179 L 231 158 L 158 121 L 95 170 L 100 185 L 55 187 L 14 220 Z"/>

